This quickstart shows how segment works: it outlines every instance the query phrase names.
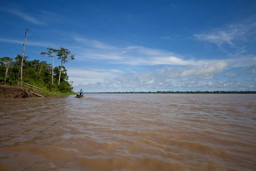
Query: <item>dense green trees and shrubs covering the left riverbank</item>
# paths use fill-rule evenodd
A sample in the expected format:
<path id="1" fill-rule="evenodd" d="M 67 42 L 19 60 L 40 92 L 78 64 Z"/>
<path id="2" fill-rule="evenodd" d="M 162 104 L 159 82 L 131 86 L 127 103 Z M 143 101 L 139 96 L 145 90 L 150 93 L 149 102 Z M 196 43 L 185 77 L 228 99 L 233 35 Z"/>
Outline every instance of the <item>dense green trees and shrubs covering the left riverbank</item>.
<path id="1" fill-rule="evenodd" d="M 55 53 L 63 64 L 74 59 L 74 55 L 68 49 L 47 49 Z M 49 53 L 42 52 L 41 54 L 48 55 Z M 53 61 L 54 56 L 52 57 L 52 54 L 49 54 L 47 57 L 52 58 Z M 17 85 L 17 82 L 20 82 L 21 63 L 22 56 L 19 54 L 14 60 L 9 57 L 0 58 L 0 84 Z M 24 56 L 22 82 L 45 89 L 47 95 L 73 94 L 73 82 L 68 82 L 67 70 L 63 64 L 62 66 L 53 67 L 53 63 L 48 64 L 46 61 L 40 60 L 29 61 L 28 57 Z"/>

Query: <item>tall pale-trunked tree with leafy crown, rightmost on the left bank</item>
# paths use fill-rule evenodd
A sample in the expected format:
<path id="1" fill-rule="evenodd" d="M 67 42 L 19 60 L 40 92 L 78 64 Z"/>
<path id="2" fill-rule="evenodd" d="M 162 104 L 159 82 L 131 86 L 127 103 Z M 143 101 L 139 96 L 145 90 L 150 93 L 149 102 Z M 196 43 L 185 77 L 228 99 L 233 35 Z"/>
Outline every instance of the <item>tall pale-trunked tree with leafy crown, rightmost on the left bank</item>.
<path id="1" fill-rule="evenodd" d="M 74 55 L 71 54 L 71 52 L 68 49 L 64 49 L 64 48 L 60 48 L 60 50 L 58 50 L 58 59 L 60 59 L 61 61 L 61 67 L 60 67 L 60 74 L 61 74 L 61 69 L 63 68 L 63 65 L 68 63 L 69 60 L 73 60 Z M 59 75 L 59 83 L 58 85 L 60 85 L 60 75 Z"/>

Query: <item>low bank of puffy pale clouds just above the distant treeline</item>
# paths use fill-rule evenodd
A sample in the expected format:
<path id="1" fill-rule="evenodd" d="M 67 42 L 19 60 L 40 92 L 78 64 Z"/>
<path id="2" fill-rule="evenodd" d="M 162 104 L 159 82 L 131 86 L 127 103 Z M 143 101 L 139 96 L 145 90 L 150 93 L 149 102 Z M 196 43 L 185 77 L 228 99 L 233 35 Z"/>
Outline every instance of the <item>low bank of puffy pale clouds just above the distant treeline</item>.
<path id="1" fill-rule="evenodd" d="M 217 64 L 216 64 L 217 65 Z M 81 73 L 73 70 L 73 74 Z M 83 72 L 83 71 L 82 71 Z M 96 73 L 94 73 L 96 72 Z M 93 74 L 94 73 L 94 74 Z M 180 78 L 167 78 L 157 73 L 118 73 L 113 77 L 110 70 L 104 75 L 99 71 L 84 71 L 77 74 L 75 90 L 82 88 L 85 92 L 118 92 L 118 91 L 213 91 L 213 90 L 253 90 L 254 84 L 222 80 L 215 82 L 214 79 L 202 80 L 194 77 L 180 81 Z M 96 77 L 95 77 L 96 76 Z M 108 77 L 108 78 L 105 78 Z M 97 79 L 96 79 L 97 78 Z M 80 83 L 79 83 L 80 82 Z"/>

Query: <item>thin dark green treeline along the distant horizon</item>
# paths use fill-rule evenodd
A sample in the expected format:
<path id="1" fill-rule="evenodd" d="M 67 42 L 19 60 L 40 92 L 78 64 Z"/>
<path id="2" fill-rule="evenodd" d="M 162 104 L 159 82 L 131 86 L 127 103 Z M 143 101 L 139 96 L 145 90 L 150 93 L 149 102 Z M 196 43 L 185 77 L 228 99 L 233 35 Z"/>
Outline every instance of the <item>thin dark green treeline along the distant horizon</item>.
<path id="1" fill-rule="evenodd" d="M 145 94 L 256 94 L 256 91 L 130 91 L 130 92 L 100 92 L 100 93 L 145 93 Z"/>

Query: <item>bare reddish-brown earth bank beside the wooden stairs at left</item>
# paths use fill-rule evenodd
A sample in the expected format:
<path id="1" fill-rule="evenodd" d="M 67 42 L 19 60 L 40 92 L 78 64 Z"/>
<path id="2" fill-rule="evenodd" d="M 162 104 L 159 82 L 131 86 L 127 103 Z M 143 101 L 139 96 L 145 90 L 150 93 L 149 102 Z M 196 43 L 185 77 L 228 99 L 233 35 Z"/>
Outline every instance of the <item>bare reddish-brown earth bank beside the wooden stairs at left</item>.
<path id="1" fill-rule="evenodd" d="M 0 85 L 0 98 L 25 98 L 32 97 L 27 89 L 22 87 Z"/>

